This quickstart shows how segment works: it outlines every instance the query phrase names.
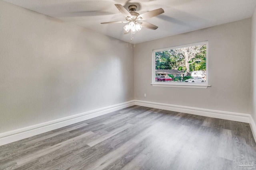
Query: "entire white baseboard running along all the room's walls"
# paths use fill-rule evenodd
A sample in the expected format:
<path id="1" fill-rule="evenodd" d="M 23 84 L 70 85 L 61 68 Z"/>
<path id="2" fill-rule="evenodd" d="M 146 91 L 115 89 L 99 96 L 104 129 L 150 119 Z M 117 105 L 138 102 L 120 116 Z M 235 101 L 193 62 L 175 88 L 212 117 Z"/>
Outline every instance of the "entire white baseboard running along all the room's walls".
<path id="1" fill-rule="evenodd" d="M 171 105 L 171 104 L 162 104 L 162 103 L 147 102 L 147 101 L 141 101 L 141 100 L 131 100 L 129 102 L 124 102 L 124 103 L 116 104 L 113 106 L 103 107 L 100 109 L 87 111 L 84 113 L 64 117 L 61 119 L 56 119 L 56 120 L 40 123 L 37 125 L 16 129 L 13 131 L 0 133 L 0 146 L 15 142 L 21 139 L 25 139 L 28 137 L 32 137 L 34 135 L 38 135 L 44 132 L 52 131 L 54 129 L 72 125 L 80 121 L 91 119 L 93 117 L 111 113 L 112 111 L 117 111 L 119 109 L 124 109 L 126 107 L 130 107 L 134 105 L 250 123 L 252 133 L 256 141 L 256 124 L 250 114 L 202 109 L 197 107 L 178 106 L 178 105 Z"/>

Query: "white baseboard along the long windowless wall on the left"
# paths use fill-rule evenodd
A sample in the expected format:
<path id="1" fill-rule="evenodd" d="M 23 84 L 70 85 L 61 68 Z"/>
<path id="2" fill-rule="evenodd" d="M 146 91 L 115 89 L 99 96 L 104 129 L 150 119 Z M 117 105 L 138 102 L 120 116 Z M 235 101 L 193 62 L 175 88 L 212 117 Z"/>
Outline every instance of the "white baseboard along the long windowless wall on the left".
<path id="1" fill-rule="evenodd" d="M 61 119 L 56 119 L 56 120 L 52 120 L 52 121 L 48 121 L 48 122 L 44 122 L 44 123 L 40 123 L 32 126 L 20 128 L 20 129 L 15 129 L 13 131 L 0 133 L 0 146 L 15 142 L 15 141 L 19 141 L 21 139 L 25 139 L 28 137 L 32 137 L 34 135 L 38 135 L 44 132 L 52 131 L 54 129 L 72 125 L 80 121 L 91 119 L 93 117 L 111 113 L 112 111 L 117 111 L 130 106 L 134 106 L 134 100 L 129 102 L 124 102 L 121 104 L 116 104 L 113 106 L 103 107 L 103 108 L 92 110 L 92 111 L 87 111 L 84 113 L 80 113 L 80 114 L 76 114 L 68 117 L 63 117 Z"/>

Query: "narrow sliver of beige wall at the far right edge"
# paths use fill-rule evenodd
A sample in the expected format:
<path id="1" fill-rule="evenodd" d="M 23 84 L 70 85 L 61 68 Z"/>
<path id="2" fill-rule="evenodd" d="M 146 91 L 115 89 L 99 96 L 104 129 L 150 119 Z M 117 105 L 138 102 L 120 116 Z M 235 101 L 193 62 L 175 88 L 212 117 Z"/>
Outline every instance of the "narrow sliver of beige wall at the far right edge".
<path id="1" fill-rule="evenodd" d="M 251 114 L 256 122 L 256 8 L 252 16 L 251 56 Z"/>

